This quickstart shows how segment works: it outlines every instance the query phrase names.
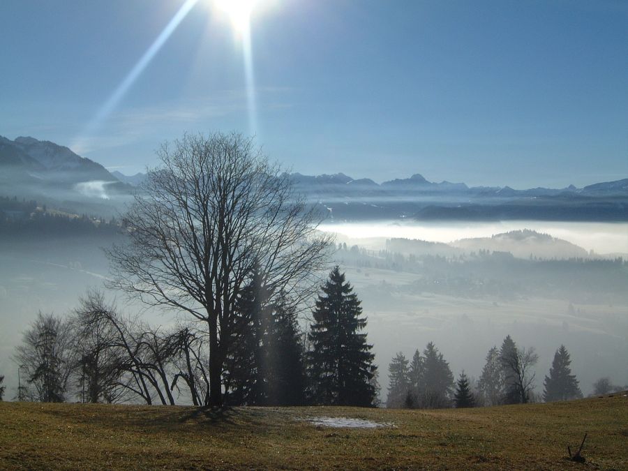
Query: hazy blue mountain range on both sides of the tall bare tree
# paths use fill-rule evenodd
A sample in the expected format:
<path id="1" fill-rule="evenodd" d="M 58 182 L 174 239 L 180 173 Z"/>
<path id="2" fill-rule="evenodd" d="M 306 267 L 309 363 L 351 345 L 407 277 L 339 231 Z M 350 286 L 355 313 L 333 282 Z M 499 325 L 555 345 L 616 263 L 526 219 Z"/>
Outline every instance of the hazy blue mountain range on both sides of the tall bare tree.
<path id="1" fill-rule="evenodd" d="M 109 172 L 54 142 L 0 136 L 0 195 L 116 204 L 116 197 L 130 197 L 144 177 Z M 584 188 L 515 190 L 437 183 L 418 173 L 382 184 L 343 173 L 292 173 L 289 178 L 298 193 L 333 220 L 628 220 L 628 179 Z"/>

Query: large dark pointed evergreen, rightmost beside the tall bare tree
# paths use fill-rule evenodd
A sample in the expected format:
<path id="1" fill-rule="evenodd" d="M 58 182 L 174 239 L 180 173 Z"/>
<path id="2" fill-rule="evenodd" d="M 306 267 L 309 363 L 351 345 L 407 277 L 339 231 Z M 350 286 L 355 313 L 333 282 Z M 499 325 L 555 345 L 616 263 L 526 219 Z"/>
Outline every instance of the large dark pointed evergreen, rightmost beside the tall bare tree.
<path id="1" fill-rule="evenodd" d="M 373 345 L 366 343 L 362 308 L 338 266 L 321 287 L 308 338 L 313 401 L 324 405 L 371 406 L 376 391 L 371 380 L 376 370 Z"/>

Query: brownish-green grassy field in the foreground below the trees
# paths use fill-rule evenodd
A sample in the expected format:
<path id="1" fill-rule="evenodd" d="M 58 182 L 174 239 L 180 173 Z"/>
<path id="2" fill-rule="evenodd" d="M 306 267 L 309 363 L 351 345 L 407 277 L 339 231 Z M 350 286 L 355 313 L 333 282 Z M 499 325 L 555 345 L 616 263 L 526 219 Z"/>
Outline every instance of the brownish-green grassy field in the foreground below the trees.
<path id="1" fill-rule="evenodd" d="M 308 417 L 385 422 L 328 428 Z M 567 459 L 583 435 L 587 462 Z M 628 469 L 628 397 L 472 410 L 0 402 L 0 468 Z"/>

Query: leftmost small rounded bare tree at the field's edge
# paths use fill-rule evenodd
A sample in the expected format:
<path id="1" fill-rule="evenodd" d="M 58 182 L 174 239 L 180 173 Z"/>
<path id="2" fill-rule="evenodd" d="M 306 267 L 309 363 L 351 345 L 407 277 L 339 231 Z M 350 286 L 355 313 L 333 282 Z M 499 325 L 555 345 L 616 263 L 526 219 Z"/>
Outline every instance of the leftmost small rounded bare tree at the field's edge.
<path id="1" fill-rule="evenodd" d="M 75 366 L 73 338 L 68 322 L 52 314 L 38 313 L 13 359 L 26 373 L 30 387 L 24 398 L 40 402 L 66 400 L 68 381 Z"/>

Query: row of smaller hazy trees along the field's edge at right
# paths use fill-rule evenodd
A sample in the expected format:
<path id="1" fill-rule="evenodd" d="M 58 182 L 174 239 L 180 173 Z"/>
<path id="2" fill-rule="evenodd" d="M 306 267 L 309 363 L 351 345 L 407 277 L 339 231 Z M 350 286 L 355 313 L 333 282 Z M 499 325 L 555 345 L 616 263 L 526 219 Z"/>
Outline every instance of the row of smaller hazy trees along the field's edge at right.
<path id="1" fill-rule="evenodd" d="M 532 368 L 538 359 L 533 347 L 519 347 L 507 336 L 500 348 L 495 346 L 488 351 L 479 380 L 473 382 L 464 371 L 454 381 L 449 363 L 433 343 L 428 343 L 422 354 L 416 350 L 411 360 L 398 352 L 388 367 L 386 405 L 410 409 L 469 408 L 583 397 L 576 375 L 571 373 L 571 357 L 565 345 L 560 345 L 554 354 L 542 396 L 535 395 L 536 373 Z M 596 395 L 624 388 L 613 386 L 608 378 L 597 380 L 593 386 Z"/>

